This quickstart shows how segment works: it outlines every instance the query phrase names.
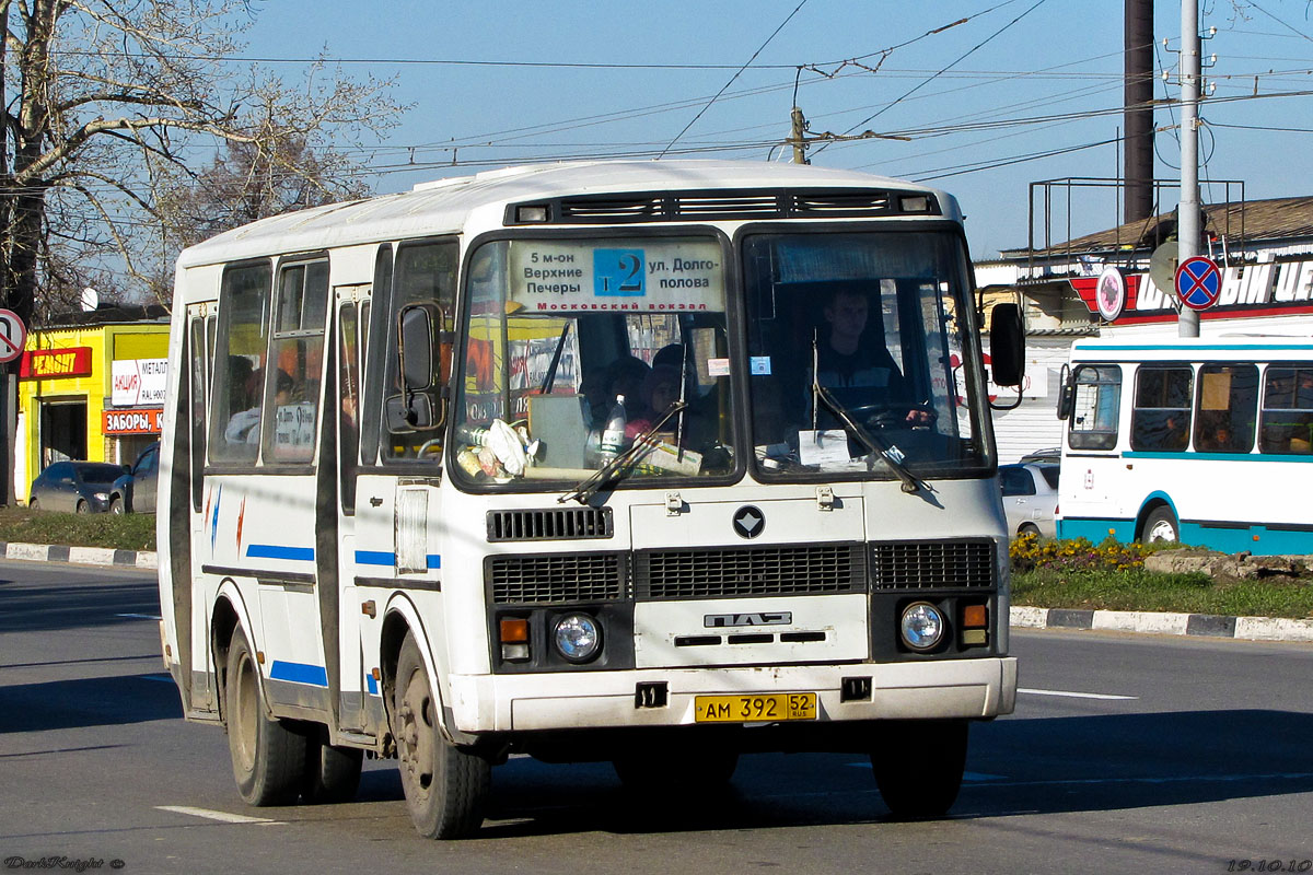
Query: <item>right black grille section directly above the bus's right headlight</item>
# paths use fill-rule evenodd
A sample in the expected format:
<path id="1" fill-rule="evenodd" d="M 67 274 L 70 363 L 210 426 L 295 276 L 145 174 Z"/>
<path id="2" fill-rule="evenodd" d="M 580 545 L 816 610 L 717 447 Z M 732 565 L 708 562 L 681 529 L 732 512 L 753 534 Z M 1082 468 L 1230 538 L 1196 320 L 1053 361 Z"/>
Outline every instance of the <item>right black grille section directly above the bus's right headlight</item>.
<path id="1" fill-rule="evenodd" d="M 874 589 L 994 586 L 993 540 L 907 540 L 871 544 Z"/>

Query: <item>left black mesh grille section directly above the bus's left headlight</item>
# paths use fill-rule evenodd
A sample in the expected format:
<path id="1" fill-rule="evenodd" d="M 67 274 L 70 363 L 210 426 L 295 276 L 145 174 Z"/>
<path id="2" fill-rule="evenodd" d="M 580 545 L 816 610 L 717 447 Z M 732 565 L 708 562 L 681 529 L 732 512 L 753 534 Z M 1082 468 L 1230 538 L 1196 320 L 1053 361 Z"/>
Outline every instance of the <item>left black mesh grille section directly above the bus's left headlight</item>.
<path id="1" fill-rule="evenodd" d="M 629 597 L 624 554 L 488 556 L 484 575 L 495 605 L 562 605 Z"/>

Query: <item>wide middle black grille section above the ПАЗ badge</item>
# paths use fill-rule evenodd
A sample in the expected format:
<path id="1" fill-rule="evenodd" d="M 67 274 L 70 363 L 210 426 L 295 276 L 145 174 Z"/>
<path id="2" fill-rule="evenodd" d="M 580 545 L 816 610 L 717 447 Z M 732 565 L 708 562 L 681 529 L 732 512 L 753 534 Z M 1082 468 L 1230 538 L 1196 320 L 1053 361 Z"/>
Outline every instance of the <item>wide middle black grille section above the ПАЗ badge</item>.
<path id="1" fill-rule="evenodd" d="M 634 596 L 639 601 L 821 596 L 865 588 L 867 560 L 860 543 L 634 554 Z"/>

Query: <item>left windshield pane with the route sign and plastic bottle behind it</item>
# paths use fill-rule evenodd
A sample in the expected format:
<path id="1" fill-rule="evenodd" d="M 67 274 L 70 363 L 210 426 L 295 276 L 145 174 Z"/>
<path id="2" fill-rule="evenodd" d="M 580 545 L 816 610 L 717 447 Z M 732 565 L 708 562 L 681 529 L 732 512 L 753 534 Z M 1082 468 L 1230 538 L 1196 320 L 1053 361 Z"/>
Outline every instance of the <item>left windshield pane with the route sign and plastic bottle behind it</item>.
<path id="1" fill-rule="evenodd" d="M 456 470 L 467 485 L 734 471 L 713 236 L 498 240 L 471 257 Z M 638 446 L 635 446 L 635 441 Z"/>

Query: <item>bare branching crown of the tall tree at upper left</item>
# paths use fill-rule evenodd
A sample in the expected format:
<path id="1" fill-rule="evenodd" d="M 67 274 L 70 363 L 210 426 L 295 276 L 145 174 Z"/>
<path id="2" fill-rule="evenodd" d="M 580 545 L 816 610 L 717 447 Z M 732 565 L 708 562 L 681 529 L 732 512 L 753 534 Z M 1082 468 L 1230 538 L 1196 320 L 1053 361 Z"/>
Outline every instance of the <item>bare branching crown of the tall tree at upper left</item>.
<path id="1" fill-rule="evenodd" d="M 121 291 L 151 290 L 184 240 L 161 226 L 161 203 L 225 147 L 294 176 L 395 123 L 391 83 L 316 64 L 291 85 L 232 63 L 252 21 L 247 0 L 0 0 L 5 306 L 30 320 L 38 300 L 110 264 Z M 336 155 L 323 160 L 361 153 Z"/>

